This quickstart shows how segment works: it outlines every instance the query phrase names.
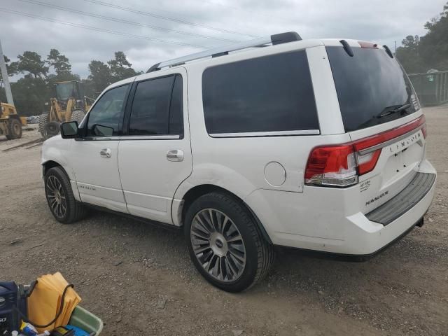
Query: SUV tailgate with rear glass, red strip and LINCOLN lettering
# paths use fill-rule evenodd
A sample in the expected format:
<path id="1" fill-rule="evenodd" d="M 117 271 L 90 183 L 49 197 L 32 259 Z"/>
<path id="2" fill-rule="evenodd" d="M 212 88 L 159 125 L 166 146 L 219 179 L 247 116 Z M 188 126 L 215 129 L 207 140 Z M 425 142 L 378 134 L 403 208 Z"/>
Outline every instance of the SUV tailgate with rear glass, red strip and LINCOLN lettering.
<path id="1" fill-rule="evenodd" d="M 352 57 L 342 46 L 326 50 L 345 131 L 352 141 L 360 141 L 360 201 L 367 213 L 412 181 L 425 155 L 426 129 L 397 60 L 376 45 L 360 45 L 352 48 Z M 376 162 L 373 169 L 369 162 Z"/>

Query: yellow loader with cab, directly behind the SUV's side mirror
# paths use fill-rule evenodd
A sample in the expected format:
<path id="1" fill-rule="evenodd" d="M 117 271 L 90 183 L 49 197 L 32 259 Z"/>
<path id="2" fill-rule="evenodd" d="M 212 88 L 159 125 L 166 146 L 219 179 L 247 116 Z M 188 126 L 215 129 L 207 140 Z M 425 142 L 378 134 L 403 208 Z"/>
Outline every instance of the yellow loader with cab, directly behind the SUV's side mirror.
<path id="1" fill-rule="evenodd" d="M 59 125 L 66 121 L 83 120 L 90 109 L 84 96 L 83 83 L 77 80 L 55 83 L 55 95 L 50 99 L 50 113 L 42 113 L 39 117 L 39 132 L 42 137 L 49 138 L 59 134 Z"/>

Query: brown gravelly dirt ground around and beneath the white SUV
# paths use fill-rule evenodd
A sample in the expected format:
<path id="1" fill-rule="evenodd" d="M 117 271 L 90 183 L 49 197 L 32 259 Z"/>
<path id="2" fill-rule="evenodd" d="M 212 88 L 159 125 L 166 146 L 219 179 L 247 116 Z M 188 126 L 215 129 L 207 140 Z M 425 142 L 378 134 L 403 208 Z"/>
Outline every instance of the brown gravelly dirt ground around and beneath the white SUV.
<path id="1" fill-rule="evenodd" d="M 2 152 L 37 132 L 1 137 L 0 279 L 62 272 L 102 335 L 448 335 L 448 106 L 427 108 L 426 120 L 438 176 L 423 228 L 362 263 L 279 248 L 267 279 L 239 294 L 202 279 L 180 232 L 104 213 L 57 223 L 41 146 Z"/>

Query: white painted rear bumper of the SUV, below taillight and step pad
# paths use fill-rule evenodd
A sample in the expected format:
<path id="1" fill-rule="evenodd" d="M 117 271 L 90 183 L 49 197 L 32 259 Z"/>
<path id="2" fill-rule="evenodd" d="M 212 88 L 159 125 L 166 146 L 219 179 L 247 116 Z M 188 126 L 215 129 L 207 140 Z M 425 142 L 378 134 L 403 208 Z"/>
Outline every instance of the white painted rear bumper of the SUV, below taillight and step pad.
<path id="1" fill-rule="evenodd" d="M 354 209 L 351 205 L 353 204 L 353 195 L 349 190 L 346 191 L 346 196 L 339 193 L 337 194 L 338 197 L 335 197 L 336 195 L 332 196 L 330 190 L 328 200 L 323 200 L 322 195 L 314 194 L 313 190 L 302 195 L 283 196 L 285 193 L 276 193 L 272 195 L 272 200 L 265 202 L 265 208 L 272 210 L 280 208 L 281 214 L 279 216 L 272 217 L 274 211 L 268 214 L 262 208 L 253 209 L 253 211 L 258 215 L 261 223 L 264 224 L 269 237 L 275 245 L 308 251 L 365 257 L 378 253 L 412 230 L 415 225 L 421 224 L 421 219 L 428 211 L 433 200 L 436 172 L 433 166 L 425 160 L 420 165 L 419 173 L 425 175 L 433 174 L 433 179 L 428 180 L 430 185 L 426 186 L 426 190 L 422 189 L 424 193 L 422 192 L 418 198 L 414 199 L 415 202 L 411 207 L 405 207 L 406 204 L 404 203 L 409 204 L 407 202 L 409 197 L 416 195 L 416 193 L 412 193 L 416 190 L 415 188 L 410 190 L 411 193 L 405 198 L 403 198 L 401 193 L 401 195 L 397 195 L 397 200 L 402 197 L 402 202 L 397 202 L 397 204 L 400 203 L 402 205 L 402 208 L 400 208 L 401 210 L 398 207 L 392 208 L 401 211 L 398 213 L 398 216 L 375 217 L 382 218 L 381 221 L 384 221 L 386 225 L 367 218 L 371 214 L 352 211 Z M 268 193 L 263 194 L 262 198 L 265 201 L 267 200 L 267 195 Z M 253 196 L 255 197 L 255 195 Z M 318 196 L 321 198 L 319 199 Z M 262 204 L 260 203 L 260 198 L 257 201 L 259 204 Z M 276 207 L 269 207 L 271 203 L 275 204 Z M 317 204 L 323 203 L 325 207 L 320 209 Z M 381 207 L 389 209 L 386 204 Z M 404 211 L 402 211 L 403 209 Z M 398 211 L 395 211 L 395 214 Z M 344 212 L 345 214 L 351 213 L 351 215 L 344 216 Z M 271 216 L 271 221 L 267 221 L 267 216 Z M 370 216 L 370 218 L 373 219 L 374 216 Z M 281 221 L 279 221 L 280 219 Z M 296 231 L 292 232 L 295 229 Z"/>

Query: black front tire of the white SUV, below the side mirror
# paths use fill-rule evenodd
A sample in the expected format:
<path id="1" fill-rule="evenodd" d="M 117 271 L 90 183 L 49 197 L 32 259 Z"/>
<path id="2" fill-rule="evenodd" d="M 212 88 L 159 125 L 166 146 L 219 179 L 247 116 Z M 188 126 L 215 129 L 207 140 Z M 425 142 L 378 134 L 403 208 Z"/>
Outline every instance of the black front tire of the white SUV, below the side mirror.
<path id="1" fill-rule="evenodd" d="M 83 206 L 82 203 L 75 200 L 73 196 L 73 191 L 71 190 L 71 185 L 69 178 L 66 176 L 64 169 L 61 167 L 53 167 L 48 169 L 48 172 L 45 174 L 45 197 L 47 199 L 48 207 L 52 215 L 56 218 L 57 221 L 63 224 L 71 224 L 76 221 L 80 221 L 87 215 L 87 209 Z M 60 184 L 60 188 L 57 183 Z M 53 188 L 55 187 L 55 188 Z M 57 207 L 55 204 L 54 193 L 52 193 L 52 189 L 59 190 L 59 196 L 62 195 L 65 200 L 65 211 L 64 214 L 59 213 L 57 211 Z M 64 209 L 61 206 L 61 209 Z"/>

